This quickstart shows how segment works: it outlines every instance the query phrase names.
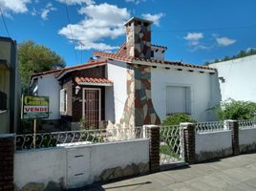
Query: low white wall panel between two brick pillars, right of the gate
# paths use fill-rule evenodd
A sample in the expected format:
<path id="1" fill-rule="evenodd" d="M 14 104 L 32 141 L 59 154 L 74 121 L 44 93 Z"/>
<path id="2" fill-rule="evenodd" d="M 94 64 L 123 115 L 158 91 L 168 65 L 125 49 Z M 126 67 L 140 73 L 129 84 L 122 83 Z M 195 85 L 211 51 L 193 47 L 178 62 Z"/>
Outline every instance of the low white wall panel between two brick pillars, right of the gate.
<path id="1" fill-rule="evenodd" d="M 232 148 L 230 130 L 196 134 L 196 154 L 218 152 L 229 148 Z"/>

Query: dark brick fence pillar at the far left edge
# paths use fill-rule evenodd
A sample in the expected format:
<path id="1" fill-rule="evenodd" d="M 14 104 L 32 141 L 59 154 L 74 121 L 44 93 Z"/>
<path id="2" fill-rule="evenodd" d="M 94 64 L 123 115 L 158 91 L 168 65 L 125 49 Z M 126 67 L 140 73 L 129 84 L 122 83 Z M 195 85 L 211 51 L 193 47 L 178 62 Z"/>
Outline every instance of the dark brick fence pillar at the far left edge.
<path id="1" fill-rule="evenodd" d="M 0 135 L 0 190 L 12 191 L 13 186 L 14 136 Z"/>

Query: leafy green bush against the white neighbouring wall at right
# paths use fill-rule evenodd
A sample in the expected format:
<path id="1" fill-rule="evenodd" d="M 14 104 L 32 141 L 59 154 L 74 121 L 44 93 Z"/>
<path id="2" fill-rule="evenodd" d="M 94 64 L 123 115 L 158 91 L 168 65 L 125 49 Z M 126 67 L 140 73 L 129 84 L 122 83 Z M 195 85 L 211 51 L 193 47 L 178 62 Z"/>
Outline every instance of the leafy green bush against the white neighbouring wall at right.
<path id="1" fill-rule="evenodd" d="M 256 103 L 251 101 L 237 101 L 227 99 L 214 107 L 218 120 L 224 119 L 252 119 L 256 112 Z"/>

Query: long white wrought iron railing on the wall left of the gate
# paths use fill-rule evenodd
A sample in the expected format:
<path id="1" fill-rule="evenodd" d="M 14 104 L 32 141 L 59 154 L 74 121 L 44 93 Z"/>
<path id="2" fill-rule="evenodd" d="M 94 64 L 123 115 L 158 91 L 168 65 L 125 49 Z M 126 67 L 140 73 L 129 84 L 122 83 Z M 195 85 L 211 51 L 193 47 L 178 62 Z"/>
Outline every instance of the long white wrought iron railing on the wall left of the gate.
<path id="1" fill-rule="evenodd" d="M 16 135 L 16 150 L 75 146 L 143 138 L 143 131 L 143 127 L 114 127 L 107 129 L 39 133 L 35 135 Z"/>

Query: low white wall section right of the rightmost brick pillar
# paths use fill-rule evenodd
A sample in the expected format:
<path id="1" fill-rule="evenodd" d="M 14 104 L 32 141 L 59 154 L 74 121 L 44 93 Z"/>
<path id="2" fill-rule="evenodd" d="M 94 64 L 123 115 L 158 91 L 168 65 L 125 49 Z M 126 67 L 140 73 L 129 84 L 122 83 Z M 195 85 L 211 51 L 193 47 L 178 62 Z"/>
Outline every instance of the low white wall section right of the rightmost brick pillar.
<path id="1" fill-rule="evenodd" d="M 256 143 L 256 128 L 240 129 L 239 130 L 239 144 L 250 145 Z"/>

